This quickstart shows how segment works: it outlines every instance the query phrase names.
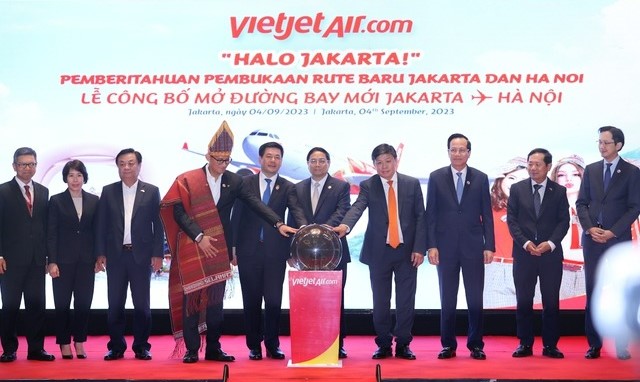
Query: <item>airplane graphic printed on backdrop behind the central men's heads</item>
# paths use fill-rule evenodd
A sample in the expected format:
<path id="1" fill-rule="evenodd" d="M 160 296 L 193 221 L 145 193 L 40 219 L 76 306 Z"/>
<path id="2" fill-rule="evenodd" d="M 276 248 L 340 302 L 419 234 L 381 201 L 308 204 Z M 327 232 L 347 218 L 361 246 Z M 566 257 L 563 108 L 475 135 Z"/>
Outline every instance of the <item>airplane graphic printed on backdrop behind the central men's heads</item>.
<path id="1" fill-rule="evenodd" d="M 260 155 L 258 149 L 266 142 L 278 142 L 285 147 L 285 155 L 280 168 L 280 174 L 293 179 L 302 180 L 309 177 L 309 168 L 307 167 L 307 153 L 311 150 L 309 145 L 287 144 L 277 133 L 269 130 L 258 129 L 252 131 L 242 141 L 242 150 L 249 158 L 250 162 L 240 162 L 232 160 L 231 164 L 238 167 L 240 174 L 256 174 L 260 171 Z M 182 149 L 197 155 L 204 155 L 202 152 L 191 150 L 187 142 L 182 145 Z M 404 144 L 400 143 L 396 148 L 398 161 L 402 157 Z M 360 182 L 368 179 L 376 174 L 373 164 L 367 161 L 347 157 L 345 160 L 336 160 L 332 156 L 331 163 L 344 163 L 344 166 L 331 173 L 335 178 L 342 179 L 351 185 L 351 193 L 357 194 L 360 191 Z M 426 179 L 420 180 L 426 183 Z"/>

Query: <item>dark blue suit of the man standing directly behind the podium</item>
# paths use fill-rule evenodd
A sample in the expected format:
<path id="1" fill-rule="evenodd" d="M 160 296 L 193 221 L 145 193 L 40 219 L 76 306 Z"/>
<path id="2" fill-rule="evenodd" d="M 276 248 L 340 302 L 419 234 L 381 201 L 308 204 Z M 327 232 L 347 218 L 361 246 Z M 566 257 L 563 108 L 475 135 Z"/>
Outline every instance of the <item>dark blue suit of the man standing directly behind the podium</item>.
<path id="1" fill-rule="evenodd" d="M 331 227 L 340 224 L 351 206 L 351 193 L 349 189 L 349 183 L 333 178 L 330 175 L 327 176 L 314 213 L 311 207 L 311 178 L 307 178 L 295 185 L 296 196 L 302 207 L 304 216 L 307 219 L 307 223 L 326 224 Z M 292 227 L 300 226 L 291 213 L 289 213 L 287 223 Z M 342 242 L 342 259 L 340 259 L 336 270 L 342 271 L 342 306 L 340 309 L 340 344 L 342 346 L 342 340 L 346 336 L 344 286 L 347 283 L 347 263 L 351 262 L 351 255 L 349 254 L 347 238 L 343 237 L 340 241 Z"/>

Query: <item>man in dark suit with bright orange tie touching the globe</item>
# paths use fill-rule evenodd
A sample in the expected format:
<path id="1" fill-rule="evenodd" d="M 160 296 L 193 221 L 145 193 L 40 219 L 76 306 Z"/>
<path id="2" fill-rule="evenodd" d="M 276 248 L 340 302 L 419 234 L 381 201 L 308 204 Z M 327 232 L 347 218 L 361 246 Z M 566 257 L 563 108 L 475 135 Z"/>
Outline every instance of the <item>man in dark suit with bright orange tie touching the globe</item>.
<path id="1" fill-rule="evenodd" d="M 397 172 L 398 156 L 393 146 L 376 146 L 371 159 L 378 174 L 360 183 L 358 198 L 334 231 L 343 237 L 364 210 L 369 210 L 360 261 L 369 266 L 373 294 L 373 326 L 378 349 L 372 358 L 391 357 L 395 335 L 396 357 L 414 360 L 416 356 L 409 344 L 413 339 L 418 266 L 424 261 L 427 234 L 422 189 L 418 179 Z M 393 279 L 395 328 L 390 302 Z"/>

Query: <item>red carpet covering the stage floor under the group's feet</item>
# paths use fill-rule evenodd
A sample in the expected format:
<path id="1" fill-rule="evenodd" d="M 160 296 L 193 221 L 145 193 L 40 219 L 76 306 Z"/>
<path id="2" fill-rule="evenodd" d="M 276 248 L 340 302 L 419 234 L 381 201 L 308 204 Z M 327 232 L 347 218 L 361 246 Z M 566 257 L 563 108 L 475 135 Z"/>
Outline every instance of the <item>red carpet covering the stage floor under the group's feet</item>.
<path id="1" fill-rule="evenodd" d="M 0 379 L 31 380 L 221 380 L 223 363 L 203 361 L 186 365 L 181 359 L 169 359 L 173 349 L 170 336 L 156 336 L 151 339 L 152 361 L 139 361 L 133 353 L 127 352 L 125 359 L 105 362 L 107 337 L 91 337 L 85 345 L 88 358 L 84 360 L 60 359 L 55 338 L 47 337 L 47 351 L 56 355 L 54 362 L 26 360 L 26 343 L 20 338 L 18 360 L 0 364 Z M 289 355 L 289 337 L 282 337 L 282 350 Z M 539 339 L 534 346 L 535 355 L 524 359 L 514 359 L 511 352 L 517 346 L 515 337 L 485 338 L 486 361 L 469 358 L 464 349 L 464 338 L 459 338 L 461 346 L 458 357 L 438 360 L 440 341 L 437 337 L 417 337 L 411 348 L 418 359 L 406 361 L 385 359 L 375 361 L 371 353 L 375 349 L 370 336 L 351 336 L 345 345 L 349 358 L 343 360 L 341 368 L 290 368 L 288 359 L 275 361 L 264 359 L 250 361 L 243 336 L 225 336 L 223 349 L 236 356 L 229 365 L 229 381 L 375 381 L 376 365 L 381 366 L 385 379 L 519 379 L 519 380 L 637 380 L 640 378 L 640 351 L 631 349 L 629 361 L 619 361 L 603 350 L 597 360 L 584 359 L 587 348 L 584 337 L 563 337 L 559 348 L 565 359 L 548 359 L 540 355 Z M 129 339 L 130 342 L 130 339 Z"/>

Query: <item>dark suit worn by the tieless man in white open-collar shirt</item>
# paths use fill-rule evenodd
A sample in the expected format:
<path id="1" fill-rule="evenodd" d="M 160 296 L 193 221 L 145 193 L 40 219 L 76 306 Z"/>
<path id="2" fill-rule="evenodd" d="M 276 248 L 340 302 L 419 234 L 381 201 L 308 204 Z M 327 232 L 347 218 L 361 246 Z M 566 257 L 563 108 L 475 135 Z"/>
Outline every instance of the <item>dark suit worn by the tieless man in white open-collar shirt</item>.
<path id="1" fill-rule="evenodd" d="M 151 258 L 164 256 L 164 228 L 160 221 L 158 187 L 138 181 L 131 216 L 132 250 L 123 248 L 124 199 L 122 182 L 104 186 L 98 203 L 97 255 L 107 258 L 107 289 L 109 309 L 109 343 L 107 348 L 124 352 L 125 303 L 127 287 L 131 288 L 134 305 L 134 352 L 151 349 Z"/>

